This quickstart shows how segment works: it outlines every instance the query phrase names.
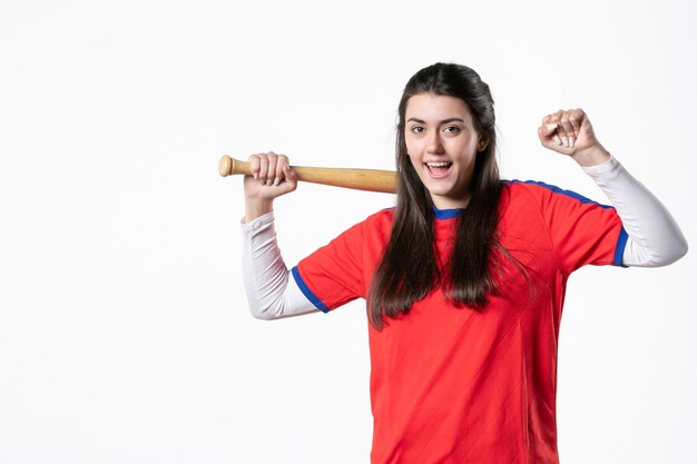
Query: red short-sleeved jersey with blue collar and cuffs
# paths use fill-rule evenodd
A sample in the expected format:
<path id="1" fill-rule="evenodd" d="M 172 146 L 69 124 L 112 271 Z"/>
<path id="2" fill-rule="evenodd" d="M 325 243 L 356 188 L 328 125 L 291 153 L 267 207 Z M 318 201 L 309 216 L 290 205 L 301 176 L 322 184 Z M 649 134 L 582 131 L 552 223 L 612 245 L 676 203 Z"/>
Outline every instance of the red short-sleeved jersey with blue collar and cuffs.
<path id="1" fill-rule="evenodd" d="M 459 210 L 436 210 L 446 258 Z M 303 259 L 293 275 L 328 312 L 365 298 L 390 238 L 382 210 Z M 613 208 L 539 182 L 508 182 L 498 237 L 510 261 L 481 310 L 457 308 L 440 288 L 405 317 L 369 324 L 373 464 L 556 464 L 557 343 L 569 274 L 621 265 L 627 235 Z"/>

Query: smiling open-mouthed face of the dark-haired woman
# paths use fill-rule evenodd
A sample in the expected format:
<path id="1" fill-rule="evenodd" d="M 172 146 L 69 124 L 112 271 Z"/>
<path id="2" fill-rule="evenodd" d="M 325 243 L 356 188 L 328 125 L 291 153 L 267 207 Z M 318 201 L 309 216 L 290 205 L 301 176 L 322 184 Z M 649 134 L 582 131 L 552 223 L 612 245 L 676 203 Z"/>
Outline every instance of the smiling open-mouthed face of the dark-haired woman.
<path id="1" fill-rule="evenodd" d="M 485 144 L 459 98 L 418 93 L 406 103 L 404 139 L 419 178 L 439 209 L 463 208 L 477 151 Z"/>

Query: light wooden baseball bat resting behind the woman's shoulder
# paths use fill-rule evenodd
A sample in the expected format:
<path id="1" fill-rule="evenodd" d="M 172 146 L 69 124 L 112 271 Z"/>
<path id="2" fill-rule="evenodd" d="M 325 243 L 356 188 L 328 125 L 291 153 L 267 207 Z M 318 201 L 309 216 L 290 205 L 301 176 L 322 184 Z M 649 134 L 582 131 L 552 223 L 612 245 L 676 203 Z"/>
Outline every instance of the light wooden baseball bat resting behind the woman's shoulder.
<path id="1" fill-rule="evenodd" d="M 380 191 L 383 194 L 396 192 L 396 172 L 380 169 L 352 168 L 317 168 L 291 166 L 297 180 L 323 184 L 334 187 L 353 188 L 355 190 Z M 249 164 L 223 155 L 218 162 L 218 172 L 227 177 L 236 174 L 251 176 Z"/>

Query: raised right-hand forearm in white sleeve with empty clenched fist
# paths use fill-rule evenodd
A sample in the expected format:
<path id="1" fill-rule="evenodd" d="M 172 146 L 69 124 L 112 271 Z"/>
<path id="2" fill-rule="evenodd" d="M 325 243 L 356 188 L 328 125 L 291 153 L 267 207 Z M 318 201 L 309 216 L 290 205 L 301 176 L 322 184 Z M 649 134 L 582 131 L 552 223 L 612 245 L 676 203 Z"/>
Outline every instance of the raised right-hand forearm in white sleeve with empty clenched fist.
<path id="1" fill-rule="evenodd" d="M 666 207 L 600 145 L 581 109 L 547 115 L 538 129 L 542 146 L 571 157 L 593 178 L 629 236 L 622 264 L 658 267 L 687 253 L 687 240 Z"/>

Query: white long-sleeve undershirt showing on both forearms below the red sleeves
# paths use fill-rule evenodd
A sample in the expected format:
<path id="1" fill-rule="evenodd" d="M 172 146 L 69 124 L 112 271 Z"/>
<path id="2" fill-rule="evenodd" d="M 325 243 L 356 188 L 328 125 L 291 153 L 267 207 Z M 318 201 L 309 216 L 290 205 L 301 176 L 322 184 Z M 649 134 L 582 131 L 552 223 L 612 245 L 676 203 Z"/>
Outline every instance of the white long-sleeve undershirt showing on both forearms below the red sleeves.
<path id="1" fill-rule="evenodd" d="M 666 266 L 687 253 L 685 236 L 670 213 L 619 161 L 611 158 L 583 170 L 606 194 L 627 231 L 625 266 Z M 242 224 L 242 230 L 243 275 L 252 315 L 278 319 L 318 312 L 281 256 L 273 211 Z"/>

